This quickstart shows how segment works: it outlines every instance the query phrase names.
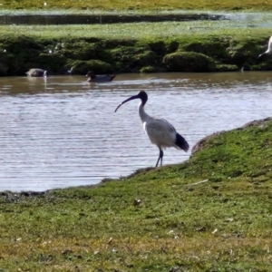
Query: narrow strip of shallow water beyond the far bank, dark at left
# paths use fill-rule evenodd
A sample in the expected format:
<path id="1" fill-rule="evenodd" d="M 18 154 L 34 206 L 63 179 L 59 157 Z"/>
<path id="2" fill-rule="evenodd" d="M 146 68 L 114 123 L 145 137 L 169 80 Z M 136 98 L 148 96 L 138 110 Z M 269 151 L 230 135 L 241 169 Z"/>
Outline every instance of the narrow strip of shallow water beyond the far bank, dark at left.
<path id="1" fill-rule="evenodd" d="M 158 13 L 104 12 L 83 10 L 13 11 L 0 10 L 0 25 L 26 24 L 116 24 L 147 22 L 190 22 L 191 29 L 209 28 L 271 28 L 271 13 L 265 12 L 215 12 L 215 11 L 167 11 Z M 208 23 L 207 23 L 208 22 Z"/>

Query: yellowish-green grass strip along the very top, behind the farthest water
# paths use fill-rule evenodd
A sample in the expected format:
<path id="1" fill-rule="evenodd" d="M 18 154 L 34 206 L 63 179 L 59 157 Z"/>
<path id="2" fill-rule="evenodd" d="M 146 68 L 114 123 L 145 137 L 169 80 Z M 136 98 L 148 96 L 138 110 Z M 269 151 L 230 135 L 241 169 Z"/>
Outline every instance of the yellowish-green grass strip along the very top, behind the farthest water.
<path id="1" fill-rule="evenodd" d="M 44 5 L 46 3 L 46 5 Z M 103 0 L 103 1 L 73 1 L 73 0 L 44 0 L 44 1 L 8 1 L 1 2 L 3 9 L 75 9 L 75 10 L 272 10 L 271 1 L 265 0 L 223 0 L 223 1 L 186 1 L 186 0 Z"/>

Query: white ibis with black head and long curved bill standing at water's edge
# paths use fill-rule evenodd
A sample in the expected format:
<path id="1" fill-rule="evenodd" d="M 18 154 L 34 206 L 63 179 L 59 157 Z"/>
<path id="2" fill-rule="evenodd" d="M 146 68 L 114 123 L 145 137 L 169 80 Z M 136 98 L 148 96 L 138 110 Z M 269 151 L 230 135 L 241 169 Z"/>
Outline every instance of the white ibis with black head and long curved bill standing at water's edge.
<path id="1" fill-rule="evenodd" d="M 174 147 L 177 150 L 183 150 L 187 152 L 189 150 L 188 142 L 175 130 L 175 128 L 164 119 L 156 119 L 144 112 L 144 105 L 148 101 L 148 95 L 146 92 L 141 91 L 137 95 L 131 96 L 129 99 L 121 102 L 116 108 L 115 112 L 125 102 L 129 102 L 133 99 L 141 99 L 139 105 L 139 115 L 142 122 L 143 130 L 149 136 L 151 143 L 157 145 L 160 150 L 159 159 L 156 166 L 162 165 L 163 150 L 169 147 Z"/>

